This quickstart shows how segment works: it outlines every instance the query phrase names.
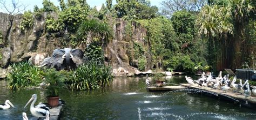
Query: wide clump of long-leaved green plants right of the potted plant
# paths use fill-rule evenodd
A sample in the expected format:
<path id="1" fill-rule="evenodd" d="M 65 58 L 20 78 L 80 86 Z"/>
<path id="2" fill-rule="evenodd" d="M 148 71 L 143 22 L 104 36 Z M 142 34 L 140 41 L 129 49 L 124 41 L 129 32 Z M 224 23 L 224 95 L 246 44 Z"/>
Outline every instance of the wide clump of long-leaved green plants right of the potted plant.
<path id="1" fill-rule="evenodd" d="M 72 90 L 89 90 L 99 87 L 106 88 L 112 81 L 112 69 L 110 66 L 97 65 L 95 62 L 80 65 L 70 80 L 66 81 Z"/>

